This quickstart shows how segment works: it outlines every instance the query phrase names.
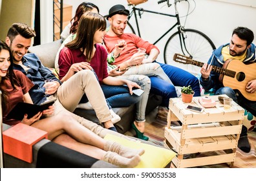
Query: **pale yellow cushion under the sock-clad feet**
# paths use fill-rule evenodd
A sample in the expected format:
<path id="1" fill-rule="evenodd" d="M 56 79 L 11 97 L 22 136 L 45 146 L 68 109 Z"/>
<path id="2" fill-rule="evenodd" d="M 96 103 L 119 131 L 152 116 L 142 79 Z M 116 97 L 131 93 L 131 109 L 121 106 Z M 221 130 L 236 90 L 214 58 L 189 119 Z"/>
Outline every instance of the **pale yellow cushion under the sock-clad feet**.
<path id="1" fill-rule="evenodd" d="M 140 157 L 140 164 L 138 164 L 135 168 L 164 168 L 176 155 L 175 152 L 163 147 L 133 142 L 112 134 L 107 134 L 104 139 L 112 140 L 121 145 L 134 149 L 145 149 L 145 153 Z"/>

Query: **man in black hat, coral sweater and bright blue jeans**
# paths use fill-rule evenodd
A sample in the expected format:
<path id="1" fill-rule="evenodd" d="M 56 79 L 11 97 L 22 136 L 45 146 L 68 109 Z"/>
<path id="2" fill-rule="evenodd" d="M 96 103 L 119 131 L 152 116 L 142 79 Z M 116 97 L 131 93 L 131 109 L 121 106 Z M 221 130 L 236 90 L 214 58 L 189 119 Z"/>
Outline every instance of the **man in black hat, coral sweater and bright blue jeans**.
<path id="1" fill-rule="evenodd" d="M 144 39 L 135 34 L 124 33 L 128 16 L 129 10 L 126 10 L 123 5 L 112 6 L 109 10 L 109 16 L 107 16 L 111 27 L 104 36 L 104 43 L 107 51 L 109 53 L 112 52 L 114 58 L 114 62 L 111 63 L 111 65 L 118 65 L 120 70 L 125 70 L 127 67 L 135 65 L 156 62 L 155 60 L 160 53 L 158 48 L 148 41 L 144 41 Z M 119 54 L 120 50 L 116 48 L 116 44 L 120 39 L 125 40 L 126 45 Z M 138 48 L 145 48 L 145 53 L 148 55 L 147 58 L 145 58 L 144 55 L 140 56 L 140 54 L 137 53 Z M 150 76 L 151 92 L 164 98 L 162 104 L 165 107 L 169 106 L 169 98 L 178 96 L 175 86 L 183 87 L 191 85 L 193 91 L 195 91 L 195 96 L 200 96 L 200 85 L 195 76 L 186 70 L 171 65 L 164 63 L 158 63 L 158 65 L 159 67 L 162 67 L 171 81 L 162 80 L 158 76 Z"/>

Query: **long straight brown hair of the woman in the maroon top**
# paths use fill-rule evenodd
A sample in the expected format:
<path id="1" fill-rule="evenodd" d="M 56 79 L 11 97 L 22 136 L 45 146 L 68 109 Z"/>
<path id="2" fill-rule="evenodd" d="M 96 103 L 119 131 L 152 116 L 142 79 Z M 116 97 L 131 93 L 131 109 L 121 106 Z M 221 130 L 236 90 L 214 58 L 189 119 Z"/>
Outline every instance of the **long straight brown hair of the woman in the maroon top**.
<path id="1" fill-rule="evenodd" d="M 81 49 L 87 61 L 91 61 L 94 47 L 94 34 L 97 30 L 105 30 L 106 20 L 98 13 L 88 12 L 83 14 L 78 25 L 76 38 L 65 46 L 70 49 Z"/>

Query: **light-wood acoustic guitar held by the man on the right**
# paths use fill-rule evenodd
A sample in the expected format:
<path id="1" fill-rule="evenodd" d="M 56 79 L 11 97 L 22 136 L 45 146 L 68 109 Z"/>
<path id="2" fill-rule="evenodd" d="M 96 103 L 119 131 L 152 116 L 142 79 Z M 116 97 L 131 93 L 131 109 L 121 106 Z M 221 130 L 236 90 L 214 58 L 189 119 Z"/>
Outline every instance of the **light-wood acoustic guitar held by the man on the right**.
<path id="1" fill-rule="evenodd" d="M 175 54 L 173 60 L 179 63 L 196 65 L 202 67 L 204 63 L 200 61 L 195 61 L 187 56 L 181 54 Z M 237 89 L 241 94 L 248 100 L 256 101 L 256 92 L 249 93 L 246 91 L 246 84 L 248 81 L 256 80 L 256 63 L 251 63 L 250 65 L 245 65 L 237 59 L 230 61 L 226 67 L 220 68 L 213 66 L 212 71 L 219 74 L 223 74 L 223 85 L 225 87 L 230 87 L 231 89 Z"/>

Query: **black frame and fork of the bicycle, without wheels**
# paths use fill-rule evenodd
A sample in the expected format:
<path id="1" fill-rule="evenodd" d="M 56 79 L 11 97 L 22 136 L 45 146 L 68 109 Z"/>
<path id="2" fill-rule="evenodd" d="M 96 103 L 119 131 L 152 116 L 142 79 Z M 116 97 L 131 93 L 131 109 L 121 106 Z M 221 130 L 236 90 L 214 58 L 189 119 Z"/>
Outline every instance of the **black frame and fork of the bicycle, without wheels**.
<path id="1" fill-rule="evenodd" d="M 156 43 L 158 43 L 158 41 L 160 41 L 166 34 L 168 34 L 171 30 L 173 30 L 173 28 L 175 28 L 176 26 L 178 27 L 178 32 L 179 32 L 179 36 L 182 34 L 182 25 L 180 25 L 180 16 L 178 14 L 178 10 L 177 10 L 177 7 L 176 7 L 176 3 L 175 3 L 175 14 L 164 14 L 164 13 L 161 13 L 161 12 L 155 12 L 155 11 L 151 11 L 151 10 L 144 10 L 144 8 L 136 8 L 135 5 L 133 5 L 133 10 L 132 12 L 130 13 L 129 17 L 128 17 L 128 20 L 131 18 L 131 16 L 133 16 L 134 14 L 134 17 L 135 17 L 135 22 L 136 22 L 136 27 L 137 27 L 137 31 L 138 31 L 138 36 L 140 36 L 140 27 L 138 25 L 138 17 L 137 17 L 137 14 L 136 14 L 136 11 L 138 11 L 138 15 L 140 15 L 140 12 L 149 12 L 151 14 L 160 14 L 160 15 L 163 15 L 163 16 L 169 16 L 169 17 L 176 17 L 176 23 L 171 27 L 169 28 L 169 30 L 167 30 L 162 36 L 160 36 L 156 41 L 155 43 L 153 43 L 153 45 L 155 45 Z M 141 37 L 141 36 L 140 36 Z M 182 52 L 183 54 L 185 55 L 184 53 L 184 50 L 183 50 L 183 45 L 184 45 L 184 48 L 186 50 L 186 52 L 191 56 L 191 54 L 187 51 L 187 48 L 186 48 L 186 43 L 184 41 L 184 36 L 182 34 L 182 37 L 180 36 L 180 46 L 182 47 Z M 182 41 L 183 40 L 183 41 Z M 183 44 L 182 44 L 183 42 Z"/>

